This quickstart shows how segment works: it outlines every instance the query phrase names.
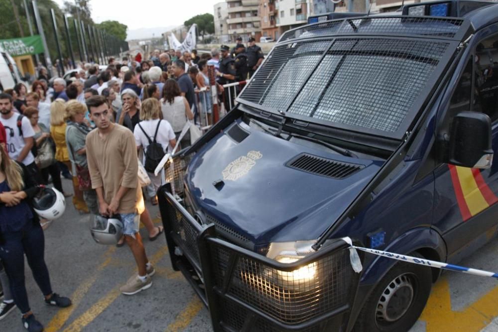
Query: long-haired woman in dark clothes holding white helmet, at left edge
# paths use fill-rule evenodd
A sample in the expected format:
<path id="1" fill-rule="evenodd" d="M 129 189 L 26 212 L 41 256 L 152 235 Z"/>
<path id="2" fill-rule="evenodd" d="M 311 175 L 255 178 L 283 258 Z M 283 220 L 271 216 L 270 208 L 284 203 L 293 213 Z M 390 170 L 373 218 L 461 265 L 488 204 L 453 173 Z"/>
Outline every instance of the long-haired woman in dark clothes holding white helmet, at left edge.
<path id="1" fill-rule="evenodd" d="M 60 216 L 64 212 L 64 197 L 60 195 L 48 188 L 40 193 L 26 167 L 11 160 L 0 145 L 0 259 L 10 282 L 13 300 L 21 311 L 22 324 L 29 332 L 42 331 L 43 326 L 29 307 L 24 282 L 24 255 L 45 303 L 60 308 L 71 305 L 70 299 L 52 292 L 43 257 L 45 238 L 36 214 L 38 211 L 42 217 L 51 219 Z"/>

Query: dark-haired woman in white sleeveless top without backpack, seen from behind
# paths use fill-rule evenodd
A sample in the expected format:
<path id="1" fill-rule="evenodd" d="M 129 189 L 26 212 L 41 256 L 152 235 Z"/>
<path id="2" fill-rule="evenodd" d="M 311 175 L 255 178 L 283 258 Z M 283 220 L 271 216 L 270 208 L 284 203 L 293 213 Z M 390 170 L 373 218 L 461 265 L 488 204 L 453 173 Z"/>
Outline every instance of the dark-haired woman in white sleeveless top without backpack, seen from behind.
<path id="1" fill-rule="evenodd" d="M 180 92 L 180 87 L 175 80 L 169 79 L 164 83 L 164 87 L 162 89 L 161 98 L 161 111 L 162 118 L 167 120 L 173 131 L 175 132 L 176 138 L 180 135 L 185 123 L 188 120 L 192 120 L 194 118 L 194 114 L 190 110 L 190 106 L 188 104 L 187 99 L 182 96 Z M 187 134 L 180 141 L 180 149 L 183 149 L 190 145 L 190 134 L 187 131 Z"/>

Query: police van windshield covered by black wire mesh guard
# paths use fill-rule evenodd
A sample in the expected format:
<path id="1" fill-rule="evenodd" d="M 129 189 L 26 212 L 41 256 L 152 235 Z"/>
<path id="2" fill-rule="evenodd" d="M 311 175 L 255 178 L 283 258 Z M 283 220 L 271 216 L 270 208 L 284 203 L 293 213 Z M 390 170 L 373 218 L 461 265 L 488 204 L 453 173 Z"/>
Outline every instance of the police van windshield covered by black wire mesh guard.
<path id="1" fill-rule="evenodd" d="M 427 97 L 423 96 L 424 88 L 449 45 L 445 41 L 393 38 L 278 45 L 240 100 L 309 121 L 392 136 L 404 130 L 410 110 Z"/>

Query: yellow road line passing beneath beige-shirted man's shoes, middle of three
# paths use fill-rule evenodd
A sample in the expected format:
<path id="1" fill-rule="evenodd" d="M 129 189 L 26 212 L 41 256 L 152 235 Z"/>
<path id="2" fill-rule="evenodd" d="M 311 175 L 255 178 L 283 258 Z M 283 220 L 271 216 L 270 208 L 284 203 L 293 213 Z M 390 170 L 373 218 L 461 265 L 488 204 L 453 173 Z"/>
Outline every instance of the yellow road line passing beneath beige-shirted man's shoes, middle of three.
<path id="1" fill-rule="evenodd" d="M 116 248 L 116 247 L 114 247 Z M 158 262 L 166 253 L 168 252 L 168 247 L 164 245 L 161 247 L 150 259 L 151 264 Z M 136 269 L 133 273 L 136 273 Z M 85 292 L 86 293 L 86 292 Z M 74 320 L 69 327 L 67 327 L 64 332 L 79 332 L 83 330 L 88 324 L 92 323 L 104 310 L 107 309 L 117 298 L 120 296 L 121 292 L 119 287 L 114 288 L 112 291 L 106 294 L 102 299 L 95 303 L 90 309 L 88 309 L 83 315 Z M 71 306 L 73 307 L 73 306 Z M 70 308 L 71 308 L 70 307 Z M 66 319 L 67 320 L 67 319 Z M 65 321 L 64 321 L 65 322 Z M 47 330 L 48 331 L 48 330 Z M 57 330 L 55 330 L 57 331 Z"/>

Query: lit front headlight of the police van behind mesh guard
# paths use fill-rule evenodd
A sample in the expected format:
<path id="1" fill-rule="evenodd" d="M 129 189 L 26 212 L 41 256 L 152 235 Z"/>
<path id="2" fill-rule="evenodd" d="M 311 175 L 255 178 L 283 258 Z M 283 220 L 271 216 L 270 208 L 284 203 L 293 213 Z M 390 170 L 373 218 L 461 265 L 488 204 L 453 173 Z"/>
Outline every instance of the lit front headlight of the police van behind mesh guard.
<path id="1" fill-rule="evenodd" d="M 314 252 L 311 247 L 316 240 L 293 241 L 293 242 L 272 242 L 268 248 L 266 257 L 274 259 L 280 263 L 290 264 L 306 257 Z M 277 271 L 278 279 L 285 283 L 301 284 L 314 281 L 318 266 L 316 262 L 306 264 L 294 271 Z"/>

